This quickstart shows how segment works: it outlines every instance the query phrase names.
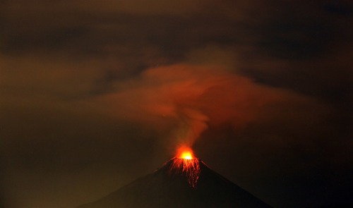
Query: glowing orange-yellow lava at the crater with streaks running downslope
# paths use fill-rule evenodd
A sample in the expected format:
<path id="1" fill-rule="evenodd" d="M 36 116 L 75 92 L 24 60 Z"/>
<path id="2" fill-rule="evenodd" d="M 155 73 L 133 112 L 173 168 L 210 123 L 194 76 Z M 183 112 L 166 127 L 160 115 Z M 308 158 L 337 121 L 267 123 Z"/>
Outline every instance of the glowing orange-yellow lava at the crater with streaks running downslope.
<path id="1" fill-rule="evenodd" d="M 177 157 L 174 157 L 171 172 L 185 175 L 189 185 L 196 188 L 198 176 L 200 175 L 200 161 L 193 156 L 193 151 L 189 147 L 181 147 Z"/>

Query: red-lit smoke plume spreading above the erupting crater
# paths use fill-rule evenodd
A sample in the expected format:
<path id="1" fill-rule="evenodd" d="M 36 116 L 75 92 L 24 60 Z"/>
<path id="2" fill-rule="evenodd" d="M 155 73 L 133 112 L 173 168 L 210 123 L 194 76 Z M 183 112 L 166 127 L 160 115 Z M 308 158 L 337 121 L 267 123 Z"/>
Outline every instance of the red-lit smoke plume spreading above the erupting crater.
<path id="1" fill-rule="evenodd" d="M 304 99 L 222 67 L 188 64 L 150 68 L 117 87 L 118 92 L 100 97 L 100 102 L 116 116 L 156 129 L 172 121 L 167 128 L 172 128 L 174 145 L 192 145 L 209 126 L 228 123 L 240 128 L 270 106 Z"/>

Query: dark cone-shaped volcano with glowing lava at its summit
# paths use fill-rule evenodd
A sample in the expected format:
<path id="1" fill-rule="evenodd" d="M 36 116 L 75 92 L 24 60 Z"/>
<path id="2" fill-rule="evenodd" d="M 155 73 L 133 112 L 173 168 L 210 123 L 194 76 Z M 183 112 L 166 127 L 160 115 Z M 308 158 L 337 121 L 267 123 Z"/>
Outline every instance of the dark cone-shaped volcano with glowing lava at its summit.
<path id="1" fill-rule="evenodd" d="M 160 169 L 78 208 L 270 207 L 186 152 Z"/>

